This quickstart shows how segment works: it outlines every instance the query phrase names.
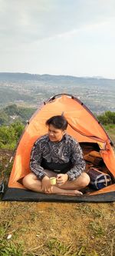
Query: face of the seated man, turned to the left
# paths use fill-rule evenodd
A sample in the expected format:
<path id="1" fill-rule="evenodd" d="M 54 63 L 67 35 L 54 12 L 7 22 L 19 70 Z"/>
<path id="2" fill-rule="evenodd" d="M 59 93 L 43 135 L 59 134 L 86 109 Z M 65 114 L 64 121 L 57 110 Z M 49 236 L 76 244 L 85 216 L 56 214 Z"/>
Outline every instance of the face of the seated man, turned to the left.
<path id="1" fill-rule="evenodd" d="M 50 141 L 61 141 L 64 136 L 64 131 L 61 129 L 54 128 L 53 125 L 48 126 L 48 137 Z"/>

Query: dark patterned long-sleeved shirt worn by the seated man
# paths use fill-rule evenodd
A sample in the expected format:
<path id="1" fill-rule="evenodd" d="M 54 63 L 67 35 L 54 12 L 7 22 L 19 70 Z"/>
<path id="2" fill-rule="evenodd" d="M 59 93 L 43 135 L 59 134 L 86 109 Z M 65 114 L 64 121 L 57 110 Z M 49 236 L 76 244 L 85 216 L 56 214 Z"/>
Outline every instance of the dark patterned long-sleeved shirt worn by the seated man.
<path id="1" fill-rule="evenodd" d="M 85 171 L 85 161 L 79 143 L 70 135 L 64 135 L 61 141 L 50 141 L 48 135 L 44 135 L 35 142 L 31 151 L 30 168 L 38 177 L 44 178 L 45 170 L 41 167 L 42 159 L 47 162 L 64 164 L 71 160 L 72 168 L 67 171 L 68 179 L 74 181 Z"/>

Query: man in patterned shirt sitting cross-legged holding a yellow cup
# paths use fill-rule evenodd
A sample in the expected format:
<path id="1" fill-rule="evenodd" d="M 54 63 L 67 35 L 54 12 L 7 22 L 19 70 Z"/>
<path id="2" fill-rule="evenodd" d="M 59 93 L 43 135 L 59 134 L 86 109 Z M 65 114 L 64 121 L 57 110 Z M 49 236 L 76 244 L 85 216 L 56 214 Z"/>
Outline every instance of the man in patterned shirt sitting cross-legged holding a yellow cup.
<path id="1" fill-rule="evenodd" d="M 85 173 L 85 161 L 79 143 L 66 134 L 67 120 L 56 115 L 48 121 L 48 134 L 35 142 L 31 151 L 31 173 L 23 185 L 32 191 L 48 194 L 82 194 L 90 178 Z M 50 178 L 56 177 L 51 185 Z"/>

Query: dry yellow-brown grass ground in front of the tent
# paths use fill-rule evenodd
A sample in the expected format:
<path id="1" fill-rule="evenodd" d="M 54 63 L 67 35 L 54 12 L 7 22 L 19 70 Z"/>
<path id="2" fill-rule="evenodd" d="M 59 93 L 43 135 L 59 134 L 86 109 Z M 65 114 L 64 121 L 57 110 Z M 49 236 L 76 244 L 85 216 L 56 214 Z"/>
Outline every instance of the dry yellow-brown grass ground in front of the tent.
<path id="1" fill-rule="evenodd" d="M 113 256 L 114 211 L 114 203 L 1 202 L 1 250 L 19 252 L 0 255 Z"/>

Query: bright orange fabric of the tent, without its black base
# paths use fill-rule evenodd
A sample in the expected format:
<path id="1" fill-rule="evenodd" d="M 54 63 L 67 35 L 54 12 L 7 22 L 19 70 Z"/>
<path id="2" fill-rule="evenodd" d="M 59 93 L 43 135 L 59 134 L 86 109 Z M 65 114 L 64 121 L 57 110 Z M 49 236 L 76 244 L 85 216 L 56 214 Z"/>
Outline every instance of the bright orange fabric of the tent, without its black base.
<path id="1" fill-rule="evenodd" d="M 25 127 L 16 151 L 8 188 L 20 188 L 20 191 L 21 189 L 25 191 L 20 181 L 30 171 L 31 148 L 38 137 L 47 133 L 48 128 L 45 125 L 45 121 L 54 115 L 64 115 L 67 118 L 69 124 L 67 133 L 77 139 L 77 141 L 99 145 L 100 155 L 114 179 L 115 155 L 110 145 L 110 138 L 106 131 L 104 131 L 104 128 L 90 110 L 77 98 L 71 95 L 57 95 L 42 105 L 41 109 L 35 112 Z M 108 193 L 111 191 L 109 187 L 107 187 Z M 115 185 L 113 185 L 113 191 L 115 191 Z M 96 191 L 97 194 L 98 192 Z"/>

